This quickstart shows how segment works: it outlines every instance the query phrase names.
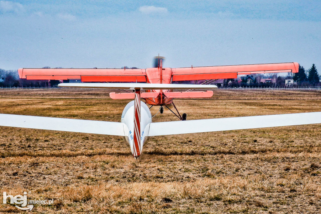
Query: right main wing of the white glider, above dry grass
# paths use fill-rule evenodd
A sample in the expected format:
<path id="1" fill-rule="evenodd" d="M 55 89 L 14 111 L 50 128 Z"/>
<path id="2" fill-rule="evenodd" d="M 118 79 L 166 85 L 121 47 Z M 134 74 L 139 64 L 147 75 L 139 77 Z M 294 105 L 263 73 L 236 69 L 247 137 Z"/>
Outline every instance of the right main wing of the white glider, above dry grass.
<path id="1" fill-rule="evenodd" d="M 151 123 L 148 136 L 321 123 L 321 112 Z"/>

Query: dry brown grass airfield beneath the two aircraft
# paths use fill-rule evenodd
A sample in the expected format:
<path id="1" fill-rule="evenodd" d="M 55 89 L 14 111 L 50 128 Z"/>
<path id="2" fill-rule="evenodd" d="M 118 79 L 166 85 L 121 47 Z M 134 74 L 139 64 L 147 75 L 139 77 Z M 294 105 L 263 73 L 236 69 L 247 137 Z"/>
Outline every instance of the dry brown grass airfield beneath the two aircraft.
<path id="1" fill-rule="evenodd" d="M 0 90 L 0 113 L 120 121 L 100 89 Z M 215 90 L 175 99 L 187 119 L 321 111 L 319 91 Z M 152 107 L 152 115 L 158 107 Z M 177 120 L 164 111 L 154 122 Z M 54 199 L 0 213 L 321 213 L 321 125 L 151 137 L 0 127 L 0 194 Z M 2 200 L 2 196 L 1 199 Z"/>

